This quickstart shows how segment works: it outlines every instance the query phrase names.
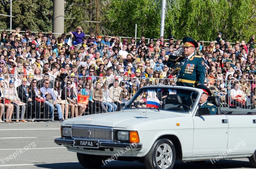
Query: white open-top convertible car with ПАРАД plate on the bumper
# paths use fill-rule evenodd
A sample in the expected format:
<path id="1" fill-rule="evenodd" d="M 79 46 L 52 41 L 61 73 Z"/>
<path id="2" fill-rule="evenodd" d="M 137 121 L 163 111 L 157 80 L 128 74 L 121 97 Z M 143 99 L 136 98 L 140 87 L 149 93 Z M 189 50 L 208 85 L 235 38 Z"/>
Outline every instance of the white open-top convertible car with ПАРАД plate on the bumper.
<path id="1" fill-rule="evenodd" d="M 54 142 L 76 152 L 88 168 L 122 160 L 171 169 L 175 160 L 215 163 L 247 157 L 256 167 L 255 113 L 234 108 L 221 113 L 218 99 L 208 97 L 218 109 L 210 115 L 209 108 L 198 107 L 202 93 L 197 88 L 146 86 L 121 111 L 65 120 L 61 138 Z M 159 107 L 148 98 L 159 100 Z"/>

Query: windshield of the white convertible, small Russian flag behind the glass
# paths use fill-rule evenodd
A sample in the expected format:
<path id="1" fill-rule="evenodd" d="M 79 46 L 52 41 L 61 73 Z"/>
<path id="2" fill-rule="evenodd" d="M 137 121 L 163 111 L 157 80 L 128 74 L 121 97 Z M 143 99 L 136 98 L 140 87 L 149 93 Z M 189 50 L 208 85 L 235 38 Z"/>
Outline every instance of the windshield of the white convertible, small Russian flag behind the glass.
<path id="1" fill-rule="evenodd" d="M 123 109 L 157 109 L 189 113 L 198 98 L 195 90 L 184 88 L 141 88 Z"/>

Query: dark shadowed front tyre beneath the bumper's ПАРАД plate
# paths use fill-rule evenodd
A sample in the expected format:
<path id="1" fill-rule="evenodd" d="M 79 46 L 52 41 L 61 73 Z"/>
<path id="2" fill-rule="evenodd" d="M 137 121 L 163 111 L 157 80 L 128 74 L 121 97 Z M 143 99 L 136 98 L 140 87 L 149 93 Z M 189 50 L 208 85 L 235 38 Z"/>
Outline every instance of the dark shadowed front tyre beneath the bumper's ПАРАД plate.
<path id="1" fill-rule="evenodd" d="M 98 168 L 102 163 L 102 159 L 99 156 L 76 153 L 79 163 L 85 168 Z"/>

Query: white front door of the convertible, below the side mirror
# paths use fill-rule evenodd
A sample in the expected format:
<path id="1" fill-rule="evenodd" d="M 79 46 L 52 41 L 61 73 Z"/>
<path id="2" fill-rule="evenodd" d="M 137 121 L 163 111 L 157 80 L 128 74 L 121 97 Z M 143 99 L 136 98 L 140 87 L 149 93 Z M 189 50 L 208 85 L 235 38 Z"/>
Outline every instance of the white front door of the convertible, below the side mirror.
<path id="1" fill-rule="evenodd" d="M 224 114 L 193 116 L 193 121 L 193 156 L 226 153 L 228 119 Z"/>

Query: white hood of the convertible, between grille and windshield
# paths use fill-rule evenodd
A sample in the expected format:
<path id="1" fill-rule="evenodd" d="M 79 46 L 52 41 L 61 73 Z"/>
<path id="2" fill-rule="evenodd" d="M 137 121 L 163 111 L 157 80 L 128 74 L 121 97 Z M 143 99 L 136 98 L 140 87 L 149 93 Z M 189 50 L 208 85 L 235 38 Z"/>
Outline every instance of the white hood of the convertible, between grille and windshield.
<path id="1" fill-rule="evenodd" d="M 157 111 L 154 109 L 126 109 L 122 111 L 92 114 L 65 120 L 65 125 L 92 125 L 127 128 L 132 123 L 145 123 L 156 119 L 166 119 L 184 116 L 183 113 Z"/>

